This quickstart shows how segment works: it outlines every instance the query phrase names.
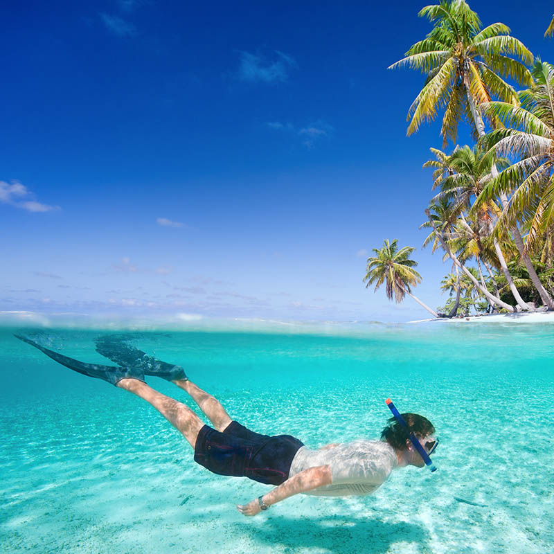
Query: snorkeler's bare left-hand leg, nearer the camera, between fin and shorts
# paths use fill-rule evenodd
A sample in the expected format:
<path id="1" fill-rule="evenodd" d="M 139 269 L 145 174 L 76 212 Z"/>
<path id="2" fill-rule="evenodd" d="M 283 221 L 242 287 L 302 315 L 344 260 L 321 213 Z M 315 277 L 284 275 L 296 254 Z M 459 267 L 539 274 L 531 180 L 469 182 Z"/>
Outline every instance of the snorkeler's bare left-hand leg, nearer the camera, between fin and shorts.
<path id="1" fill-rule="evenodd" d="M 121 379 L 116 386 L 125 388 L 125 391 L 136 394 L 152 404 L 173 427 L 181 431 L 190 446 L 195 447 L 198 433 L 204 427 L 204 423 L 188 406 L 154 391 L 152 387 L 137 379 Z"/>

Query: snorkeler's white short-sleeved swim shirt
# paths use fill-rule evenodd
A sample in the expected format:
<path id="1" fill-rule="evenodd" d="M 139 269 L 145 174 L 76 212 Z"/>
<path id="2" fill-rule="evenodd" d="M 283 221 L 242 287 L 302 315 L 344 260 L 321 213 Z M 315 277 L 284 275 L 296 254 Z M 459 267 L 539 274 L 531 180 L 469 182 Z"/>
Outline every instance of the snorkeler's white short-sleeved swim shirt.
<path id="1" fill-rule="evenodd" d="M 289 479 L 319 465 L 331 467 L 331 484 L 303 494 L 346 497 L 374 492 L 395 469 L 397 458 L 393 447 L 382 440 L 359 439 L 327 450 L 311 450 L 303 446 L 292 460 Z"/>

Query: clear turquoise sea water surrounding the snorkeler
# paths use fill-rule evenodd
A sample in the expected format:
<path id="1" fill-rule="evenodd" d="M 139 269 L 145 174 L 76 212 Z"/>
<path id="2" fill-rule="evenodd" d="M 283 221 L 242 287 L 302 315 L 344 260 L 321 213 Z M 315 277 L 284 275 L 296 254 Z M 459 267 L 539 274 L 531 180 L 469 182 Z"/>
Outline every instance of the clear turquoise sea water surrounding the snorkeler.
<path id="1" fill-rule="evenodd" d="M 11 332 L 0 328 L 3 552 L 544 554 L 554 544 L 552 324 L 135 333 L 256 431 L 312 447 L 376 438 L 388 396 L 434 422 L 435 474 L 409 467 L 370 497 L 298 495 L 253 518 L 234 506 L 265 485 L 208 473 L 151 406 Z M 98 331 L 48 332 L 60 352 L 105 362 Z"/>

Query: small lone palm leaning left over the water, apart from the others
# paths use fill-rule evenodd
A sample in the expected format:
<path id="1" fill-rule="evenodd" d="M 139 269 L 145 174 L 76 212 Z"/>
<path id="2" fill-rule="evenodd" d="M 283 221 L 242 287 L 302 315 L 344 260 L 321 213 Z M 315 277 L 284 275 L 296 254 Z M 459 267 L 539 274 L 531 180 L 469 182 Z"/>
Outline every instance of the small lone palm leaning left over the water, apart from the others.
<path id="1" fill-rule="evenodd" d="M 404 247 L 398 250 L 398 240 L 393 242 L 385 240 L 381 249 L 373 249 L 375 256 L 368 258 L 366 267 L 366 276 L 364 283 L 366 288 L 375 283 L 375 291 L 385 283 L 386 296 L 389 300 L 393 297 L 397 303 L 404 300 L 406 294 L 413 298 L 417 303 L 425 307 L 429 313 L 438 317 L 438 314 L 419 298 L 411 294 L 411 287 L 415 287 L 421 283 L 421 276 L 413 269 L 418 262 L 410 260 L 410 254 L 415 250 L 413 247 Z M 375 292 L 374 291 L 374 292 Z"/>

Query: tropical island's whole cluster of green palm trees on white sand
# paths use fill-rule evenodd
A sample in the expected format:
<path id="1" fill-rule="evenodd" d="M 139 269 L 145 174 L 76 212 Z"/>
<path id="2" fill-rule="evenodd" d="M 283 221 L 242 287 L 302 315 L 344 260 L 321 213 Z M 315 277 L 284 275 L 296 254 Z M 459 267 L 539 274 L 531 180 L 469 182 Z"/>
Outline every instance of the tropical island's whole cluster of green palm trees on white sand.
<path id="1" fill-rule="evenodd" d="M 364 282 L 384 284 L 397 303 L 406 294 L 434 318 L 554 310 L 554 66 L 535 58 L 493 23 L 483 28 L 463 0 L 420 10 L 433 28 L 389 69 L 425 75 L 408 111 L 411 135 L 443 114 L 442 148 L 431 148 L 433 196 L 420 228 L 423 247 L 443 254 L 452 272 L 445 305 L 413 295 L 421 282 L 415 247 L 384 240 L 367 260 Z M 554 16 L 544 33 L 554 35 Z M 457 145 L 458 125 L 474 143 Z M 451 149 L 447 150 L 451 145 Z"/>

